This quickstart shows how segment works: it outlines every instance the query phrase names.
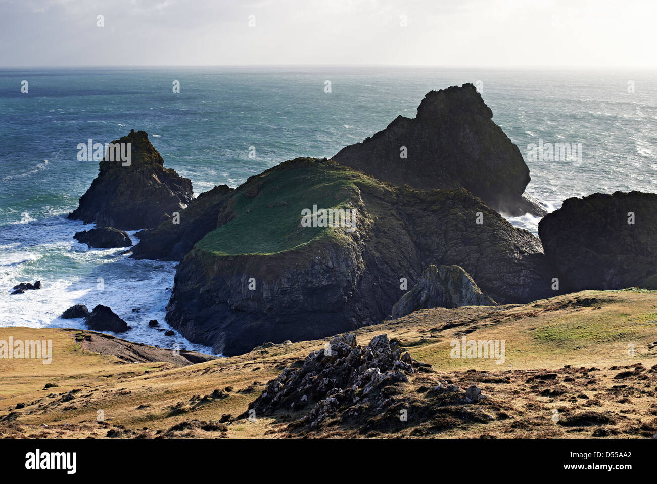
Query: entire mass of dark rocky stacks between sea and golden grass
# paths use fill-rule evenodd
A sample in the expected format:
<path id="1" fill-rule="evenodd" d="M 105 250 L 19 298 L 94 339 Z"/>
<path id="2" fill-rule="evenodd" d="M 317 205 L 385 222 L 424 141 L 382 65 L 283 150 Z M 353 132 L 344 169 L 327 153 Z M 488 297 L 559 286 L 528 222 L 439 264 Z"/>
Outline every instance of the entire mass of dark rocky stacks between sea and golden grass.
<path id="1" fill-rule="evenodd" d="M 424 307 L 522 304 L 652 280 L 657 195 L 568 199 L 541 220 L 540 238 L 514 228 L 499 212 L 545 210 L 524 195 L 528 167 L 491 118 L 470 84 L 430 91 L 416 118 L 399 116 L 330 160 L 288 160 L 196 199 L 133 130 L 117 140 L 131 143 L 131 166 L 102 160 L 70 218 L 120 238 L 101 243 L 145 229 L 134 258 L 180 261 L 167 322 L 226 355 Z M 353 225 L 321 222 L 332 213 L 353 214 Z M 463 274 L 436 283 L 432 266 Z"/>

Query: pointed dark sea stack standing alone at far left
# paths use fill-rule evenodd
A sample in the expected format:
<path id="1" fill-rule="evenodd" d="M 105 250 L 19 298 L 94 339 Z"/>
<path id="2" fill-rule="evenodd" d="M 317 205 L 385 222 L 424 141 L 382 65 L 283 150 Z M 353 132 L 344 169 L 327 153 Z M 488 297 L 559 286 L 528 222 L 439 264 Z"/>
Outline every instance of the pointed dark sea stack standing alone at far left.
<path id="1" fill-rule="evenodd" d="M 192 201 L 192 182 L 164 168 L 148 133 L 132 130 L 112 143 L 131 143 L 130 165 L 106 156 L 68 218 L 122 230 L 153 228 Z"/>

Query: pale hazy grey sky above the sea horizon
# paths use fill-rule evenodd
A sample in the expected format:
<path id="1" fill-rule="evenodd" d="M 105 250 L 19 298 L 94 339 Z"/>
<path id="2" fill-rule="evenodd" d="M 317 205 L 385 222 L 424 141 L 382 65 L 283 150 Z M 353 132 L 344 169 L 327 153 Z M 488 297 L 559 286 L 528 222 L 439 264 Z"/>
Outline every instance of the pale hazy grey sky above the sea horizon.
<path id="1" fill-rule="evenodd" d="M 655 20 L 655 0 L 0 0 L 0 67 L 652 69 Z"/>

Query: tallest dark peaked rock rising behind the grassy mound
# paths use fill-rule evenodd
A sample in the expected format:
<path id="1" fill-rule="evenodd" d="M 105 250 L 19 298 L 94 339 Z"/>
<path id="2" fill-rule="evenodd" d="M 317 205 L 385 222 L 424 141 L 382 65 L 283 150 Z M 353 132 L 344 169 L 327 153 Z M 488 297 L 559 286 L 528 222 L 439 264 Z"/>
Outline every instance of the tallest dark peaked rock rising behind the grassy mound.
<path id="1" fill-rule="evenodd" d="M 545 215 L 523 196 L 529 168 L 492 117 L 472 84 L 430 91 L 414 119 L 397 116 L 388 128 L 343 148 L 332 160 L 395 185 L 463 187 L 511 216 Z"/>

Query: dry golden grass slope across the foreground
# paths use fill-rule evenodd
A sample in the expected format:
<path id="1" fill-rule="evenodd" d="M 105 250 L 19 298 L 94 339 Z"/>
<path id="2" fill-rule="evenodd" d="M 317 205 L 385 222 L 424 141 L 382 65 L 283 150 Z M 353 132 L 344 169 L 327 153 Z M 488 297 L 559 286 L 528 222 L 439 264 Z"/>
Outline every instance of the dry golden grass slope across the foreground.
<path id="1" fill-rule="evenodd" d="M 328 341 L 263 347 L 176 368 L 162 362 L 124 363 L 86 351 L 74 333 L 0 328 L 0 340 L 51 339 L 54 352 L 51 364 L 0 360 L 0 433 L 5 437 L 295 435 L 281 416 L 229 420 L 225 429 L 166 431 L 185 420 L 209 422 L 241 414 L 269 379 Z M 656 430 L 657 372 L 651 367 L 657 363 L 657 347 L 649 347 L 657 342 L 656 291 L 585 291 L 525 305 L 436 308 L 355 331 L 361 345 L 382 333 L 401 341 L 413 358 L 436 370 L 400 384 L 399 397 L 420 408 L 430 398 L 426 388 L 438 381 L 451 380 L 461 387 L 476 384 L 489 397 L 477 411 L 492 418 L 466 423 L 453 422 L 449 415 L 438 421 L 435 416 L 423 416 L 421 422 L 409 418 L 406 427 L 373 431 L 371 437 L 645 437 Z M 505 341 L 503 364 L 451 358 L 450 342 L 463 335 L 468 341 Z M 628 368 L 610 369 L 614 366 Z M 631 374 L 616 378 L 623 371 Z M 550 373 L 556 376 L 537 377 Z M 44 389 L 46 383 L 58 386 Z M 219 392 L 212 396 L 215 390 Z M 64 401 L 70 391 L 74 399 Z M 56 395 L 49 397 L 51 393 Z M 17 409 L 18 403 L 24 408 Z M 561 423 L 551 420 L 555 408 Z M 101 423 L 99 410 L 104 413 Z M 604 414 L 610 422 L 595 434 L 599 425 L 576 425 L 582 412 Z M 568 418 L 575 419 L 574 425 L 564 425 Z M 313 433 L 363 435 L 367 433 L 340 425 Z"/>

